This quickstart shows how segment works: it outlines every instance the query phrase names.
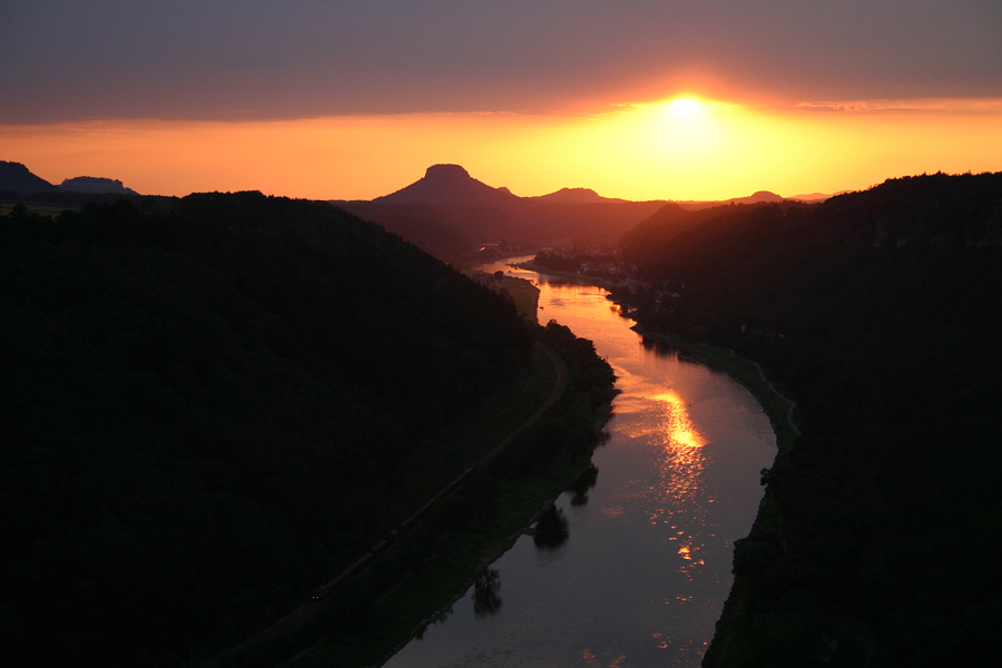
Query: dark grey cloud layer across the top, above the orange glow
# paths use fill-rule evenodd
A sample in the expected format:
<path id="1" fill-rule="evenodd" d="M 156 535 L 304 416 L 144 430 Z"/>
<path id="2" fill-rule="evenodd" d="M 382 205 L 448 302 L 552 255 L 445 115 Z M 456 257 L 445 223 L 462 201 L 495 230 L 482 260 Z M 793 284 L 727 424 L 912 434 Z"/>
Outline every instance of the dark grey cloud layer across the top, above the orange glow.
<path id="1" fill-rule="evenodd" d="M 547 111 L 691 70 L 788 99 L 1002 97 L 994 0 L 7 0 L 0 122 Z"/>

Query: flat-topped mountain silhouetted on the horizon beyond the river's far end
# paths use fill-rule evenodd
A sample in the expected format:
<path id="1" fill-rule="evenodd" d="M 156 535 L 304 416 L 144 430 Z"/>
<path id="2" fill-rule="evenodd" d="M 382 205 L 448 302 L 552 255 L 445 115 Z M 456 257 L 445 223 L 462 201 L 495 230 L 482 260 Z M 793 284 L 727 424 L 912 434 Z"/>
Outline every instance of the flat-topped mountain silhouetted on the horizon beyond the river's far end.
<path id="1" fill-rule="evenodd" d="M 508 188 L 492 188 L 477 180 L 460 165 L 432 165 L 423 178 L 372 202 L 503 207 L 514 205 L 519 199 Z"/>

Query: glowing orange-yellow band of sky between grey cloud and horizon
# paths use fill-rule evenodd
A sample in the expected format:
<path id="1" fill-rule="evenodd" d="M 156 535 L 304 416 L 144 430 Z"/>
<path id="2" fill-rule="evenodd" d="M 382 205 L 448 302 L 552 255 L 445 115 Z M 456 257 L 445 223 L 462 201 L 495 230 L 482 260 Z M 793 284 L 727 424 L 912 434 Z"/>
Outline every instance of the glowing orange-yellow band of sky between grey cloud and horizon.
<path id="1" fill-rule="evenodd" d="M 590 187 L 627 199 L 862 189 L 885 178 L 1002 170 L 1002 100 L 741 105 L 670 97 L 570 114 L 405 114 L 282 121 L 105 120 L 0 126 L 0 158 L 52 183 L 145 194 L 258 189 L 371 199 L 436 163 L 517 195 Z M 680 112 L 681 111 L 681 112 Z"/>

